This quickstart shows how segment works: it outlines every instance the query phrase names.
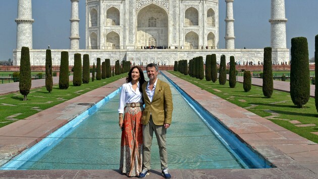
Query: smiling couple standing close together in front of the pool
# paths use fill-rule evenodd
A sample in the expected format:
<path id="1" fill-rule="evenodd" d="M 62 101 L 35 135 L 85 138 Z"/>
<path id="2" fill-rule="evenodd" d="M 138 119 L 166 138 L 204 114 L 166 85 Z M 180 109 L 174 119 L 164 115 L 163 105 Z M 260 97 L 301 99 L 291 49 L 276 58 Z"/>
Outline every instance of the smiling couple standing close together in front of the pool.
<path id="1" fill-rule="evenodd" d="M 148 82 L 144 79 L 142 69 L 133 66 L 122 86 L 118 109 L 119 127 L 123 130 L 119 169 L 128 176 L 143 178 L 149 174 L 154 132 L 159 147 L 162 174 L 165 178 L 171 178 L 166 148 L 166 133 L 171 124 L 173 110 L 171 90 L 168 83 L 157 78 L 156 64 L 148 64 L 146 72 Z"/>

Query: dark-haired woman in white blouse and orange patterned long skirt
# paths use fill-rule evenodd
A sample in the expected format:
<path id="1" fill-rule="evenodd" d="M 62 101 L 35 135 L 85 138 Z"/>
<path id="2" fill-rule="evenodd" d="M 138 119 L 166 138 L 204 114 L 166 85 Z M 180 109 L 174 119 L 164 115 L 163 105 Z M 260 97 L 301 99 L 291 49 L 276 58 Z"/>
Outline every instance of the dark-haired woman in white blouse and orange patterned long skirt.
<path id="1" fill-rule="evenodd" d="M 119 169 L 127 176 L 138 176 L 142 170 L 142 124 L 140 121 L 143 111 L 141 86 L 144 82 L 142 69 L 133 66 L 120 93 L 118 113 L 122 140 Z"/>

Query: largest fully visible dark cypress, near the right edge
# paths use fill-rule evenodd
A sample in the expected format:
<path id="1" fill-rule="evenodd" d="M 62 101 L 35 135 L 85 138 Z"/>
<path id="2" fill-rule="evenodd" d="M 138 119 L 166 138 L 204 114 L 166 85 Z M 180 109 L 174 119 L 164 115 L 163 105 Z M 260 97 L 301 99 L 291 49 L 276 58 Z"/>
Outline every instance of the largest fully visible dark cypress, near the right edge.
<path id="1" fill-rule="evenodd" d="M 302 108 L 310 97 L 309 53 L 305 37 L 291 39 L 290 97 Z"/>

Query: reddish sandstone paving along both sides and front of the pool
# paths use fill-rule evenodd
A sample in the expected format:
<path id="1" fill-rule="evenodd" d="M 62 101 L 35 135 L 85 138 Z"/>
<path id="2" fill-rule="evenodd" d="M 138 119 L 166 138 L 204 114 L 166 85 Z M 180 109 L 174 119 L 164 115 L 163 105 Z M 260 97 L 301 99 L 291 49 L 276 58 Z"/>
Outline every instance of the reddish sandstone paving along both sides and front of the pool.
<path id="1" fill-rule="evenodd" d="M 163 72 L 224 123 L 238 138 L 276 166 L 268 169 L 171 169 L 173 178 L 318 178 L 316 143 L 201 90 L 168 72 Z M 123 82 L 124 79 L 120 79 L 25 120 L 0 128 L 0 164 L 34 145 L 42 137 L 88 108 L 81 106 L 80 103 L 93 105 L 115 91 Z M 119 170 L 1 170 L 0 178 L 127 178 L 127 176 L 122 175 Z M 146 178 L 163 177 L 159 170 L 151 170 L 151 174 Z"/>

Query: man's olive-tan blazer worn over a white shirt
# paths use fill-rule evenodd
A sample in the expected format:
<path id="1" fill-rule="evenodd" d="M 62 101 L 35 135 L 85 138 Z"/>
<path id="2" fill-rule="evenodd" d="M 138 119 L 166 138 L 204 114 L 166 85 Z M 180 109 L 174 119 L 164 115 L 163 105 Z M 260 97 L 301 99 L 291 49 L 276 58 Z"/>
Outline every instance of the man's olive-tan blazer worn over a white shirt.
<path id="1" fill-rule="evenodd" d="M 145 109 L 142 113 L 141 123 L 146 125 L 150 120 L 151 113 L 152 121 L 155 125 L 164 125 L 164 123 L 171 124 L 173 103 L 169 84 L 157 79 L 151 103 L 146 94 L 147 84 L 148 82 L 142 84 L 142 96 Z"/>

